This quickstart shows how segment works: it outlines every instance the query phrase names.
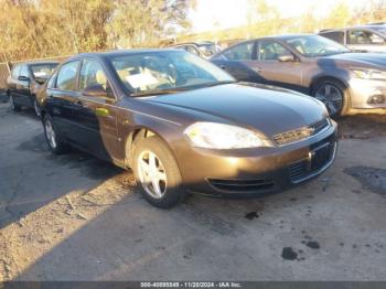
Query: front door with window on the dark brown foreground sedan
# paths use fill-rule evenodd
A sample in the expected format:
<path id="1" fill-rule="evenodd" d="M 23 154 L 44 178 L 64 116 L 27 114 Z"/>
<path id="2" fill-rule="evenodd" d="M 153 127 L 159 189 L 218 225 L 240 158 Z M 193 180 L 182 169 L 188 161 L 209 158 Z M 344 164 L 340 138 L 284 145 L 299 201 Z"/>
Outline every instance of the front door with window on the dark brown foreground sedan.
<path id="1" fill-rule="evenodd" d="M 78 140 L 92 153 L 111 161 L 118 146 L 116 97 L 101 63 L 95 58 L 85 58 L 78 83 L 79 106 L 74 110 L 74 120 L 81 131 Z M 101 86 L 106 97 L 87 95 L 85 89 L 93 86 Z"/>

